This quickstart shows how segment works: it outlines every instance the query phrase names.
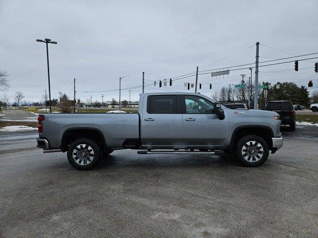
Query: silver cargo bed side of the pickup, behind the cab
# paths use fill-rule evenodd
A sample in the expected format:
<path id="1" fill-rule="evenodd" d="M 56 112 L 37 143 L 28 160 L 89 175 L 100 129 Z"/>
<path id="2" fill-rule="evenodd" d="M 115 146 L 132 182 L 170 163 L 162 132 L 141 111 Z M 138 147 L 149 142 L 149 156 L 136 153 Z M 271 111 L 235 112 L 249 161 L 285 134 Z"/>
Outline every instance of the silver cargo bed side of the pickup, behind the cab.
<path id="1" fill-rule="evenodd" d="M 94 128 L 102 132 L 108 147 L 121 147 L 125 139 L 139 138 L 137 113 L 65 113 L 43 114 L 43 132 L 40 137 L 50 137 L 50 147 L 59 148 L 63 134 L 70 128 Z"/>

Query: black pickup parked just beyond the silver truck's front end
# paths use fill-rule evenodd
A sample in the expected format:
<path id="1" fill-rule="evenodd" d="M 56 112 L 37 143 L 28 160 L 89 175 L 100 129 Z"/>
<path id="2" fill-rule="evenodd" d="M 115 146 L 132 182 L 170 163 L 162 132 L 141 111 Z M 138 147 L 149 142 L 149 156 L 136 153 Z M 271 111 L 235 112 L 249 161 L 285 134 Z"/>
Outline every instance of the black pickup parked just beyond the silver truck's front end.
<path id="1" fill-rule="evenodd" d="M 295 130 L 296 114 L 291 101 L 270 101 L 263 110 L 278 113 L 282 124 L 289 125 L 291 130 Z"/>

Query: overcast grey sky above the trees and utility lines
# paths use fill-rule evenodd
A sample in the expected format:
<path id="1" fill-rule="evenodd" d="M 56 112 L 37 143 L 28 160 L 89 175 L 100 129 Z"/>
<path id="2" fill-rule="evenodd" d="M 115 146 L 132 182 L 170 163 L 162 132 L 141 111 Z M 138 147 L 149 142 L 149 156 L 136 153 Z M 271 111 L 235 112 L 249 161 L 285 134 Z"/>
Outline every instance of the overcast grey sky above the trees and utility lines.
<path id="1" fill-rule="evenodd" d="M 76 78 L 81 100 L 92 95 L 101 101 L 102 93 L 80 91 L 118 89 L 125 75 L 130 77 L 122 80 L 122 88 L 140 86 L 143 71 L 146 83 L 153 84 L 160 77 L 194 72 L 196 66 L 206 70 L 252 63 L 257 41 L 260 61 L 316 53 L 317 10 L 317 0 L 0 0 L 0 70 L 10 75 L 6 95 L 11 103 L 15 91 L 23 92 L 25 100 L 41 100 L 48 89 L 46 50 L 36 39 L 49 38 L 58 42 L 49 45 L 52 98 L 59 91 L 73 97 Z M 298 72 L 293 62 L 261 67 L 259 80 L 306 86 L 307 80 L 317 80 L 317 88 L 314 61 L 301 61 Z M 199 75 L 201 92 L 211 96 L 221 83 L 238 84 L 239 74 L 250 72 L 231 71 L 221 79 Z M 195 77 L 176 80 L 171 87 L 147 86 L 145 92 L 184 91 L 184 82 L 194 83 Z M 131 100 L 141 92 L 131 89 Z M 105 101 L 118 100 L 118 91 L 103 94 Z M 129 100 L 128 90 L 122 91 L 123 99 Z"/>

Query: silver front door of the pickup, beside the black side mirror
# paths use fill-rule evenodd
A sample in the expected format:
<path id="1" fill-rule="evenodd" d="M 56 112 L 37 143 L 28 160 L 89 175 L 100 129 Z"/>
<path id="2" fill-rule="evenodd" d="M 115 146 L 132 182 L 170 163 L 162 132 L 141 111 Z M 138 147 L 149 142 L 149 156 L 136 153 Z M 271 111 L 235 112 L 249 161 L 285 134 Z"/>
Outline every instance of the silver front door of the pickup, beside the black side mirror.
<path id="1" fill-rule="evenodd" d="M 220 120 L 212 102 L 196 95 L 181 95 L 183 141 L 188 147 L 224 146 L 229 135 L 229 116 Z"/>

